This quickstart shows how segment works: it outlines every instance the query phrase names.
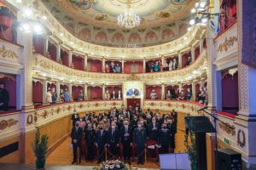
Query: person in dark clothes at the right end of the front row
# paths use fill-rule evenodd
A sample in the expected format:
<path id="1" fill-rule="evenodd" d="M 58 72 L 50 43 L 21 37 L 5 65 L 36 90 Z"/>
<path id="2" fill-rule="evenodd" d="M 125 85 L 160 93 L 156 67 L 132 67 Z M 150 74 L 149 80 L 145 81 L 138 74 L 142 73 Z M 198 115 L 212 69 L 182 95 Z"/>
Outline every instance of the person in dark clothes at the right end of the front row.
<path id="1" fill-rule="evenodd" d="M 170 144 L 171 133 L 170 130 L 166 127 L 166 123 L 163 123 L 162 128 L 159 132 L 159 143 L 161 145 L 161 154 L 169 153 L 169 144 Z"/>

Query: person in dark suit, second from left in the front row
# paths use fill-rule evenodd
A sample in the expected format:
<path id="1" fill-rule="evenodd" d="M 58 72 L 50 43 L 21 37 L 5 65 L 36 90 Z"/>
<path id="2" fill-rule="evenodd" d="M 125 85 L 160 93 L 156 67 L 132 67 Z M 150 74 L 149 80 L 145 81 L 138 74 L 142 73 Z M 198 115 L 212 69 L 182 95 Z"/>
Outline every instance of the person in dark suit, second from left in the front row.
<path id="1" fill-rule="evenodd" d="M 93 161 L 93 149 L 94 149 L 94 142 L 95 142 L 95 129 L 92 128 L 91 123 L 87 125 L 87 128 L 84 128 L 85 133 L 85 143 L 87 149 L 87 161 Z"/>

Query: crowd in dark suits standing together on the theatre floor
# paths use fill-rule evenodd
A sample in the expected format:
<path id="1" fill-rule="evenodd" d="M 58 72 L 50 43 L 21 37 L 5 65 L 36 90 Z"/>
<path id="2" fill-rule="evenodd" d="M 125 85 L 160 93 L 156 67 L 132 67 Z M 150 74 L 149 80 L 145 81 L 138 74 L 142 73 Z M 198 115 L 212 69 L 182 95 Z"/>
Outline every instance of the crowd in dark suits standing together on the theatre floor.
<path id="1" fill-rule="evenodd" d="M 105 161 L 105 150 L 108 159 L 120 157 L 119 146 L 122 145 L 122 156 L 125 162 L 131 163 L 131 150 L 137 149 L 137 164 L 144 163 L 144 149 L 148 139 L 154 140 L 160 146 L 160 153 L 170 153 L 175 149 L 175 133 L 177 132 L 177 112 L 166 112 L 160 116 L 148 109 L 142 111 L 137 106 L 134 110 L 122 108 L 118 111 L 111 108 L 108 113 L 102 111 L 85 113 L 84 117 L 74 111 L 72 115 L 73 129 L 71 133 L 73 144 L 73 163 L 78 160 L 78 148 L 81 149 L 83 136 L 87 149 L 87 161 L 93 161 L 98 151 L 98 162 Z M 171 150 L 170 150 L 171 148 Z M 79 156 L 79 163 L 81 158 Z"/>

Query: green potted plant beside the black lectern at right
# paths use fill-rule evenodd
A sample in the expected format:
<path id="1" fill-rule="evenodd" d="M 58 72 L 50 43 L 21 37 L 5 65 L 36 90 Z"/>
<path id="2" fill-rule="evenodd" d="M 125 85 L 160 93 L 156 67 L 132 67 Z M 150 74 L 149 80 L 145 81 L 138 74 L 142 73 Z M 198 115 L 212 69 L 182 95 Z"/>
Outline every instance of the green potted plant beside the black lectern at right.
<path id="1" fill-rule="evenodd" d="M 189 141 L 190 139 L 190 141 Z M 196 165 L 197 165 L 197 153 L 196 153 L 196 144 L 195 144 L 195 134 L 189 133 L 185 134 L 185 141 L 184 145 L 186 147 L 186 151 L 188 152 L 189 155 L 189 161 L 190 161 L 190 166 L 191 170 L 196 170 Z"/>

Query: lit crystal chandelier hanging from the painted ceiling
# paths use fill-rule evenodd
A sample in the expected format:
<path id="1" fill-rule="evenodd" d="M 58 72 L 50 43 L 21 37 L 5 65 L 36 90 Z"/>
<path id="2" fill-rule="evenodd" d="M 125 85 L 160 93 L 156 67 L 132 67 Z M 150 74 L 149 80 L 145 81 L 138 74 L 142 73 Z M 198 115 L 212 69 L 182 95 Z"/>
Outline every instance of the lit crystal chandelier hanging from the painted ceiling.
<path id="1" fill-rule="evenodd" d="M 131 9 L 131 0 L 127 0 L 127 8 L 125 8 L 124 14 L 119 14 L 118 16 L 118 25 L 131 29 L 140 24 L 140 17 Z"/>

